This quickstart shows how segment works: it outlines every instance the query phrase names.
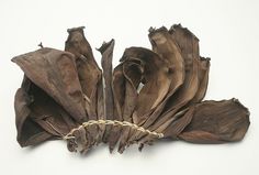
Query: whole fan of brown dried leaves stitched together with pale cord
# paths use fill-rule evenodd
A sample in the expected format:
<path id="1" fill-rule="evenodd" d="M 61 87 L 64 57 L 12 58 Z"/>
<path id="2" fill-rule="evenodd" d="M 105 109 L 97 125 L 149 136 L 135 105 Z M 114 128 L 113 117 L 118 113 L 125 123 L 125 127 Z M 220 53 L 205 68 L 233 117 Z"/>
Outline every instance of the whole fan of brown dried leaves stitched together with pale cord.
<path id="1" fill-rule="evenodd" d="M 21 146 L 64 139 L 72 152 L 104 142 L 122 153 L 158 139 L 223 143 L 244 138 L 249 111 L 237 99 L 202 101 L 210 58 L 200 56 L 199 40 L 188 29 L 150 29 L 153 48 L 126 48 L 114 69 L 114 40 L 98 50 L 101 69 L 83 28 L 68 33 L 65 51 L 42 47 L 12 59 L 24 72 L 14 102 Z"/>

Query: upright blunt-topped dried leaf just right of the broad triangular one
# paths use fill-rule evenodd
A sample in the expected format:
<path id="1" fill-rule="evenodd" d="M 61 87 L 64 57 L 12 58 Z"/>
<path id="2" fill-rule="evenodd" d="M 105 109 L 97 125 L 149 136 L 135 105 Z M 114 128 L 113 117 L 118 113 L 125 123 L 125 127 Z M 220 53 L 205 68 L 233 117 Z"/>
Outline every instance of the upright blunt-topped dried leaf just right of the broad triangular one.
<path id="1" fill-rule="evenodd" d="M 101 100 L 102 94 L 99 86 L 101 86 L 101 69 L 99 68 L 92 48 L 83 34 L 83 28 L 74 28 L 68 30 L 68 39 L 66 41 L 65 51 L 76 55 L 77 70 L 79 81 L 87 99 L 87 113 L 90 120 L 97 120 L 98 99 Z M 98 94 L 99 92 L 99 94 Z M 99 97 L 99 98 L 98 98 Z"/>

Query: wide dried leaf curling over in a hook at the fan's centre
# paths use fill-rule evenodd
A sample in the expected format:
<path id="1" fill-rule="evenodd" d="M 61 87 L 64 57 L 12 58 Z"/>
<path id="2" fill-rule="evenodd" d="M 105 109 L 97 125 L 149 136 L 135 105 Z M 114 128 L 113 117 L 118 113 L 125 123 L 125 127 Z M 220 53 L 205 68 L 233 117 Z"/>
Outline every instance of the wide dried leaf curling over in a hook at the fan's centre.
<path id="1" fill-rule="evenodd" d="M 171 84 L 171 69 L 159 55 L 143 48 L 127 48 L 121 61 L 134 62 L 138 59 L 143 67 L 144 86 L 137 97 L 136 109 L 133 114 L 134 123 L 143 123 L 168 94 Z M 140 68 L 139 68 L 140 69 Z M 138 83 L 139 84 L 139 83 Z"/>

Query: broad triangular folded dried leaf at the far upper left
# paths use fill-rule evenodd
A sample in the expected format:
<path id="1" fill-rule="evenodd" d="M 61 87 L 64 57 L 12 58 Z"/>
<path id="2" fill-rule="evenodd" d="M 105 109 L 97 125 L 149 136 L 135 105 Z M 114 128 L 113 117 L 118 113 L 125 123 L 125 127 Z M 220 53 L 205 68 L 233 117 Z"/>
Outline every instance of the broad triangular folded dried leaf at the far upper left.
<path id="1" fill-rule="evenodd" d="M 54 48 L 41 48 L 16 56 L 12 62 L 77 121 L 85 120 L 85 101 L 72 54 Z"/>

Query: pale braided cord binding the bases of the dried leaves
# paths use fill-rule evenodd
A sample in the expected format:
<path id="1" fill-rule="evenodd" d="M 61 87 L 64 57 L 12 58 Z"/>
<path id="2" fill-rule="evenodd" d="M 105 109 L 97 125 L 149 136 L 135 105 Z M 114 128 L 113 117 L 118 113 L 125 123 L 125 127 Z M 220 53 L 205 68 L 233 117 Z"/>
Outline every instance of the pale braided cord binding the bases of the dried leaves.
<path id="1" fill-rule="evenodd" d="M 117 121 L 117 120 L 89 120 L 87 122 L 83 122 L 81 125 L 78 128 L 72 129 L 68 134 L 66 134 L 63 139 L 68 140 L 68 139 L 74 139 L 75 136 L 72 135 L 75 131 L 80 130 L 81 128 L 88 128 L 89 125 L 92 124 L 105 124 L 105 125 L 121 125 L 121 127 L 131 127 L 135 130 L 142 131 L 143 133 L 148 133 L 151 135 L 156 135 L 158 138 L 164 138 L 164 133 L 158 133 L 155 131 L 149 131 L 147 129 L 144 129 L 143 127 L 139 127 L 137 124 L 127 122 L 127 121 Z"/>

